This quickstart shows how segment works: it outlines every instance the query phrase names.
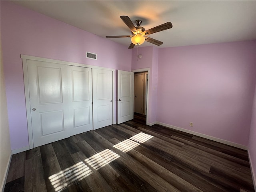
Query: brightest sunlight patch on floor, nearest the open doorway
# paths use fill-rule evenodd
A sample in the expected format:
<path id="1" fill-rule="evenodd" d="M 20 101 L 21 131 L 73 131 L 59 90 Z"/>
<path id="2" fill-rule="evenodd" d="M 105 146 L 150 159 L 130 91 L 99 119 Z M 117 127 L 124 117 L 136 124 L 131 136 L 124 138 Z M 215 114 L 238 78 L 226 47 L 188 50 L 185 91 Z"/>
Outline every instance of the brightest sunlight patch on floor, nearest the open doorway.
<path id="1" fill-rule="evenodd" d="M 113 147 L 126 153 L 126 152 L 132 150 L 133 148 L 135 148 L 136 146 L 151 139 L 152 137 L 153 136 L 151 136 L 151 135 L 140 132 L 122 142 L 119 142 L 118 144 L 114 145 Z"/>

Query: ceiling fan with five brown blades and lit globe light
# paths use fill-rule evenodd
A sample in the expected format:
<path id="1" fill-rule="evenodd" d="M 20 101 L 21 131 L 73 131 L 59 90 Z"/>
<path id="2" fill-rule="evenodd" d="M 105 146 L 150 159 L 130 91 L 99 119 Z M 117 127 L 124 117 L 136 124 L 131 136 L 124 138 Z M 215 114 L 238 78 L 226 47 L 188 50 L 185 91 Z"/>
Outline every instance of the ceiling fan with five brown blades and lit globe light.
<path id="1" fill-rule="evenodd" d="M 132 35 L 106 36 L 106 38 L 130 37 L 132 38 L 131 39 L 132 43 L 130 44 L 129 49 L 134 48 L 135 45 L 141 45 L 142 43 L 144 43 L 144 41 L 150 42 L 158 46 L 162 45 L 163 42 L 150 38 L 147 35 L 172 28 L 172 23 L 167 22 L 162 25 L 145 30 L 144 27 L 140 26 L 140 24 L 142 23 L 142 20 L 136 20 L 135 22 L 137 26 L 135 27 L 128 16 L 120 16 L 120 18 L 128 26 L 128 28 L 130 28 L 130 30 L 132 31 Z"/>

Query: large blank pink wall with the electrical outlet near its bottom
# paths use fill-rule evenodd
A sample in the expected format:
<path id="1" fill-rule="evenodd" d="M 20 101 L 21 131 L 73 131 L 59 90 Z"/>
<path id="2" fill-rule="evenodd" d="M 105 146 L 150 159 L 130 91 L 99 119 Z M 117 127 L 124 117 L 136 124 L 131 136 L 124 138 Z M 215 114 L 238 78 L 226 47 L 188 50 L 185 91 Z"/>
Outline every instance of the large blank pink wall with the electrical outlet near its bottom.
<path id="1" fill-rule="evenodd" d="M 247 146 L 255 46 L 246 41 L 160 48 L 157 121 Z"/>

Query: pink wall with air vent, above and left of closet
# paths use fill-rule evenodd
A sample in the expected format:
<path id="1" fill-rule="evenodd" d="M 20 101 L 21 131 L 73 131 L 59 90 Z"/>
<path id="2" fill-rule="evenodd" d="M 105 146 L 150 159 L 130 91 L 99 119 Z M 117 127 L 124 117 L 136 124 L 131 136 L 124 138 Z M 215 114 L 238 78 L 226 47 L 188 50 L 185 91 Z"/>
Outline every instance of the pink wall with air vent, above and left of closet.
<path id="1" fill-rule="evenodd" d="M 28 146 L 20 54 L 130 71 L 131 50 L 12 2 L 0 3 L 10 139 L 14 150 Z M 96 53 L 98 60 L 86 59 L 86 51 Z"/>

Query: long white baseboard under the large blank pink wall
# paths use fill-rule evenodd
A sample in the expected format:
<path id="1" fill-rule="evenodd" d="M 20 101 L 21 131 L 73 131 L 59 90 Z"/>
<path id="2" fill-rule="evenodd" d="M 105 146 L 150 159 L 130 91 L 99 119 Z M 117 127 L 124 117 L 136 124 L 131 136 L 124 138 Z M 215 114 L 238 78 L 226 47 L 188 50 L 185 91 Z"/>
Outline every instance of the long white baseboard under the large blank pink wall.
<path id="1" fill-rule="evenodd" d="M 159 125 L 162 125 L 162 126 L 166 126 L 168 128 L 172 128 L 172 129 L 175 129 L 175 130 L 186 132 L 186 133 L 196 135 L 196 136 L 199 136 L 199 137 L 202 137 L 202 138 L 210 139 L 210 140 L 220 142 L 220 143 L 223 143 L 223 144 L 227 144 L 227 145 L 230 145 L 230 146 L 233 146 L 233 147 L 237 147 L 237 148 L 240 148 L 240 149 L 243 149 L 243 150 L 247 150 L 247 146 L 244 146 L 244 145 L 241 145 L 241 144 L 238 144 L 238 143 L 234 143 L 234 142 L 231 142 L 231 141 L 227 141 L 227 140 L 219 139 L 219 138 L 212 137 L 212 136 L 209 136 L 209 135 L 201 134 L 201 133 L 198 133 L 198 132 L 190 131 L 190 130 L 187 130 L 187 129 L 184 129 L 184 128 L 172 126 L 172 125 L 165 124 L 165 123 L 162 123 L 162 122 L 156 122 L 156 123 L 159 124 Z"/>

